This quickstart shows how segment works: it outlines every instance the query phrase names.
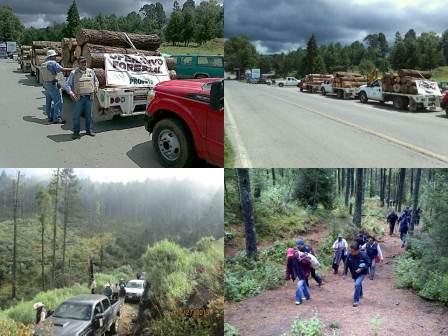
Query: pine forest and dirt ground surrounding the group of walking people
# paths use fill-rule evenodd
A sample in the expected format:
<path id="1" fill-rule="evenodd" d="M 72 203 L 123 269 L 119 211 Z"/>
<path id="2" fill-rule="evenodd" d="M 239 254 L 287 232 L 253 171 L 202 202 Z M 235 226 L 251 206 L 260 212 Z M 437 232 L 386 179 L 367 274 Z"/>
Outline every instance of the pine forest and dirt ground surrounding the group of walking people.
<path id="1" fill-rule="evenodd" d="M 225 335 L 448 331 L 447 169 L 225 169 L 224 187 Z M 409 214 L 403 248 L 397 228 L 389 232 L 392 210 Z M 384 261 L 352 308 L 353 284 L 342 266 L 332 271 L 332 245 L 341 235 L 351 246 L 361 232 L 376 239 Z M 318 286 L 310 277 L 311 300 L 300 306 L 285 281 L 297 239 L 316 252 L 323 279 Z M 254 307 L 263 316 L 257 325 Z M 404 314 L 417 317 L 397 322 Z"/>

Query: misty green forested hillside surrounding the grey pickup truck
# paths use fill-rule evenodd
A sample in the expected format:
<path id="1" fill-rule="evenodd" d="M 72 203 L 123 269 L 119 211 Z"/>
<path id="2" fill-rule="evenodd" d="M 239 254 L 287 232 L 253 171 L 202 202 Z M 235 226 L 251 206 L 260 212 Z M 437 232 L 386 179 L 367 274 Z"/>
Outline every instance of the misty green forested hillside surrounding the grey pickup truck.
<path id="1" fill-rule="evenodd" d="M 0 335 L 28 335 L 35 302 L 55 309 L 88 293 L 90 267 L 98 288 L 146 272 L 144 300 L 124 308 L 138 315 L 129 335 L 222 329 L 222 205 L 222 186 L 174 174 L 97 182 L 71 168 L 51 178 L 2 171 L 0 330 L 8 332 Z M 210 309 L 192 319 L 179 314 L 183 307 Z"/>

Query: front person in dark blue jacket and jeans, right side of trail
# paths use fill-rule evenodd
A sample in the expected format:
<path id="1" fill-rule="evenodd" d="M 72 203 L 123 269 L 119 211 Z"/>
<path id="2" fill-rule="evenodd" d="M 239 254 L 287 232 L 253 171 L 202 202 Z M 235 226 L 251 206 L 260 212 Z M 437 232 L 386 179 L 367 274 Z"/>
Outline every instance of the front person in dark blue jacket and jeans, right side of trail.
<path id="1" fill-rule="evenodd" d="M 347 271 L 350 270 L 352 279 L 355 281 L 355 293 L 353 295 L 353 307 L 359 306 L 359 300 L 363 297 L 362 281 L 368 273 L 370 266 L 369 256 L 360 251 L 358 243 L 350 245 L 350 254 L 347 256 L 344 267 L 344 277 Z"/>

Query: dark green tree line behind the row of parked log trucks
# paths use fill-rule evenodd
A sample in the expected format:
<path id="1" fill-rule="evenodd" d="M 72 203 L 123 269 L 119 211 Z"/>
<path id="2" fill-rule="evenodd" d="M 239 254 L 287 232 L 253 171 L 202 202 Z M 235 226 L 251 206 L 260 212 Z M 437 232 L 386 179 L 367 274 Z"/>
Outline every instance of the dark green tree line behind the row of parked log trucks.
<path id="1" fill-rule="evenodd" d="M 312 73 L 359 71 L 368 74 L 375 68 L 381 72 L 397 69 L 433 70 L 448 65 L 448 30 L 440 36 L 434 32 L 414 29 L 402 35 L 396 32 L 394 41 L 384 33 L 369 34 L 362 41 L 349 45 L 339 42 L 319 45 L 312 35 L 306 48 L 288 53 L 261 55 L 246 36 L 229 38 L 225 45 L 226 70 L 260 68 L 262 73 L 302 78 Z"/>

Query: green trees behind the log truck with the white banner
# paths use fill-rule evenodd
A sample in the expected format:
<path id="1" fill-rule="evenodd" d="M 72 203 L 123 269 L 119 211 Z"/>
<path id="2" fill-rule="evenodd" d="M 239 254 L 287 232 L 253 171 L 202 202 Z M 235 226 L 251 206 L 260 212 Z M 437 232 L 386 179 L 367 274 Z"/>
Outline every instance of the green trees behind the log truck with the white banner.
<path id="1" fill-rule="evenodd" d="M 224 34 L 224 8 L 215 0 L 194 0 L 181 4 L 174 1 L 167 13 L 161 2 L 143 5 L 138 12 L 126 16 L 104 15 L 80 18 L 74 0 L 67 11 L 67 22 L 53 23 L 46 28 L 25 28 L 8 6 L 0 6 L 0 41 L 18 41 L 30 45 L 32 41 L 61 41 L 64 37 L 75 37 L 80 28 L 106 29 L 128 33 L 158 33 L 163 42 L 185 46 L 198 45 Z"/>

